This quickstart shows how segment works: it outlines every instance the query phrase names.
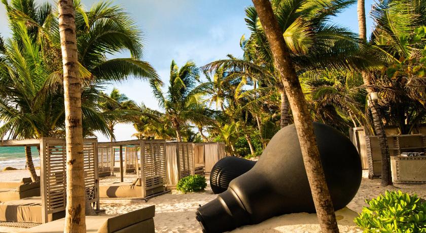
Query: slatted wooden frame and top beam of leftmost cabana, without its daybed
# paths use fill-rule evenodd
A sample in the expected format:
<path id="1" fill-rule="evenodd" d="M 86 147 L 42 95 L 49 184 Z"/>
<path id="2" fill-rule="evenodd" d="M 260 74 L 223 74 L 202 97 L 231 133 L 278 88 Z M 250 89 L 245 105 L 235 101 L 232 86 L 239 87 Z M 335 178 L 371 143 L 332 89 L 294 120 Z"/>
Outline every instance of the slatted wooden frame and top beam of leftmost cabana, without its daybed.
<path id="1" fill-rule="evenodd" d="M 41 138 L 9 140 L 0 146 L 37 146 L 40 148 L 40 193 L 42 223 L 63 212 L 66 206 L 66 144 L 65 139 Z M 84 139 L 84 182 L 90 203 L 99 209 L 97 139 Z M 10 208 L 18 208 L 12 206 Z"/>

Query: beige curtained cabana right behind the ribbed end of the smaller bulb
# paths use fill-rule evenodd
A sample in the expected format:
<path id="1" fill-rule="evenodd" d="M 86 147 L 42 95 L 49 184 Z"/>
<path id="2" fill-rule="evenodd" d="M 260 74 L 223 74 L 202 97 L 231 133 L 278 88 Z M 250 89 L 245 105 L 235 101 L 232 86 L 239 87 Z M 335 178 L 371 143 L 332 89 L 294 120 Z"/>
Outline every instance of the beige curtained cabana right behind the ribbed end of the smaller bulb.
<path id="1" fill-rule="evenodd" d="M 227 157 L 224 142 L 203 142 L 194 144 L 195 173 L 201 172 L 204 165 L 204 172 L 209 173 L 215 164 Z"/>

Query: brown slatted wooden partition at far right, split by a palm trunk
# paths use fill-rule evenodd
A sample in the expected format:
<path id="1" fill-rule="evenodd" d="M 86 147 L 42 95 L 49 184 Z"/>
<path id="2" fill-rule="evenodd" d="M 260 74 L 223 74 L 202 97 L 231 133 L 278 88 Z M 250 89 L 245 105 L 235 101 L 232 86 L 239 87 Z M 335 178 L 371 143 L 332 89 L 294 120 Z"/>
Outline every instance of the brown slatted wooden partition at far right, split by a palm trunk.
<path id="1" fill-rule="evenodd" d="M 368 159 L 368 177 L 381 176 L 381 150 L 377 136 L 366 136 L 365 144 Z M 387 136 L 387 146 L 390 156 L 399 156 L 402 152 L 425 152 L 426 135 L 392 135 Z M 389 158 L 390 159 L 390 158 Z"/>

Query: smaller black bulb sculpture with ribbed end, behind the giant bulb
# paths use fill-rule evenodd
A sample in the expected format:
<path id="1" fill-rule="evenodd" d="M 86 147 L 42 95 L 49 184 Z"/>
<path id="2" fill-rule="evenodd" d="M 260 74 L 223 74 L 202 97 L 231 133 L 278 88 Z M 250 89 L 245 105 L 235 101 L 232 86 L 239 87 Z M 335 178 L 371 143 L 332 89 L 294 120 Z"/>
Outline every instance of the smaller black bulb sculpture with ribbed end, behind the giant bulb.
<path id="1" fill-rule="evenodd" d="M 229 182 L 238 176 L 248 172 L 255 166 L 255 161 L 238 157 L 225 157 L 219 160 L 210 172 L 210 186 L 215 194 L 222 193 L 228 189 Z"/>

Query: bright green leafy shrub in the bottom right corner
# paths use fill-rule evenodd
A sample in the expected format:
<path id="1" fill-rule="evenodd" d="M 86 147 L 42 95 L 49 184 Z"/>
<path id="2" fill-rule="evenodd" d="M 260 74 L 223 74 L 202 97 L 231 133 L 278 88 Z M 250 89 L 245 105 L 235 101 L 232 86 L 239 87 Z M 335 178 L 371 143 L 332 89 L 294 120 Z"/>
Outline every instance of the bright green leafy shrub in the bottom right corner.
<path id="1" fill-rule="evenodd" d="M 417 195 L 386 191 L 366 203 L 369 207 L 354 219 L 364 232 L 426 232 L 426 203 Z"/>

